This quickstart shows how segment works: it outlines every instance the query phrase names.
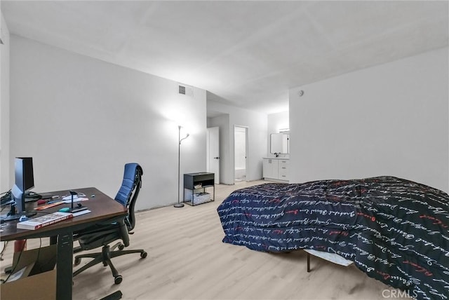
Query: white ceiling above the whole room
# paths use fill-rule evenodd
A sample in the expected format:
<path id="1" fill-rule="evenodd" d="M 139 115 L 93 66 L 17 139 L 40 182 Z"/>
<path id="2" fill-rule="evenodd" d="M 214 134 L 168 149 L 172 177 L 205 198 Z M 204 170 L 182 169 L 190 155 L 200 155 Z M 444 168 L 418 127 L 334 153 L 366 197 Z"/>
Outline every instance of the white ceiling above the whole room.
<path id="1" fill-rule="evenodd" d="M 18 34 L 264 113 L 288 89 L 448 46 L 448 1 L 1 1 Z"/>

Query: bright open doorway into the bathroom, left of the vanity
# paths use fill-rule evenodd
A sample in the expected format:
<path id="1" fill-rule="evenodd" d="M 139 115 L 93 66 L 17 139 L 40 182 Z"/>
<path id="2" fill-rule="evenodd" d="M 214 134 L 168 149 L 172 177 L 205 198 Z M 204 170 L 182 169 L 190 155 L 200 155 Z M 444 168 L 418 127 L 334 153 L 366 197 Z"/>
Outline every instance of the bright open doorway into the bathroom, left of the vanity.
<path id="1" fill-rule="evenodd" d="M 247 161 L 248 127 L 234 125 L 234 181 L 246 181 Z"/>

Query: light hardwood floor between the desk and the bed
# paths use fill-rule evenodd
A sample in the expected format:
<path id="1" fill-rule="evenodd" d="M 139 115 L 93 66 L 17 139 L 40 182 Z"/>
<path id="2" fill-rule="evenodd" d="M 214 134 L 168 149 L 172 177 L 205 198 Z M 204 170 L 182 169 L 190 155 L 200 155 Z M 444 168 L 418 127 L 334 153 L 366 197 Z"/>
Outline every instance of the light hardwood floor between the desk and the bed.
<path id="1" fill-rule="evenodd" d="M 128 254 L 113 259 L 123 276 L 120 285 L 114 285 L 109 267 L 89 268 L 74 278 L 74 299 L 100 299 L 118 289 L 123 299 L 148 300 L 391 298 L 394 289 L 354 266 L 312 257 L 307 273 L 305 252 L 269 254 L 222 243 L 217 206 L 234 189 L 260 183 L 217 185 L 215 202 L 203 205 L 138 212 L 130 247 L 144 248 L 147 258 Z M 38 246 L 39 240 L 28 243 L 29 248 Z M 10 244 L 2 272 L 4 264 L 11 264 L 12 249 Z"/>

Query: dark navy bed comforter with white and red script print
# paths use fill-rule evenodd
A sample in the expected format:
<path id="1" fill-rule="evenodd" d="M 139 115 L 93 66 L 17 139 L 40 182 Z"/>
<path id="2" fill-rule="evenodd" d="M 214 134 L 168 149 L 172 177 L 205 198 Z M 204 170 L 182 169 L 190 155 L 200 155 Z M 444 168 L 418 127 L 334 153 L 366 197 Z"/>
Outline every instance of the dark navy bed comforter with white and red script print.
<path id="1" fill-rule="evenodd" d="M 449 196 L 396 177 L 261 184 L 217 208 L 223 242 L 336 253 L 416 299 L 449 299 Z"/>

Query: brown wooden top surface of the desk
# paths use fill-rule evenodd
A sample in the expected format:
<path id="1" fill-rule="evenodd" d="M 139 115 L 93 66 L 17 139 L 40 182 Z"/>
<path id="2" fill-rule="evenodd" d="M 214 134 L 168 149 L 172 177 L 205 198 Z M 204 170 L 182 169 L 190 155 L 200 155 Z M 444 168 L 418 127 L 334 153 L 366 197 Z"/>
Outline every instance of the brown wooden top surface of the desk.
<path id="1" fill-rule="evenodd" d="M 126 216 L 128 214 L 128 209 L 118 203 L 116 200 L 105 195 L 98 189 L 93 187 L 85 189 L 75 189 L 78 193 L 86 194 L 86 198 L 89 200 L 82 201 L 83 206 L 88 207 L 91 210 L 88 214 L 82 214 L 78 217 L 73 217 L 72 219 L 67 219 L 65 221 L 60 221 L 58 223 L 44 226 L 41 229 L 36 230 L 24 230 L 17 229 L 18 220 L 6 221 L 7 226 L 1 227 L 4 231 L 0 233 L 0 240 L 20 240 L 26 238 L 39 238 L 45 236 L 56 236 L 59 233 L 67 233 L 68 231 L 77 231 L 85 228 L 91 224 L 95 224 L 98 221 L 103 221 L 106 219 L 119 219 L 120 217 Z M 69 195 L 69 191 L 53 191 L 49 192 L 52 195 L 66 196 Z M 92 197 L 95 195 L 95 197 Z M 36 203 L 34 203 L 36 205 Z M 71 204 L 62 204 L 55 207 L 48 208 L 46 210 L 36 211 L 37 214 L 34 217 L 39 217 L 42 214 L 48 214 L 49 212 L 57 212 L 62 207 L 70 207 Z"/>

